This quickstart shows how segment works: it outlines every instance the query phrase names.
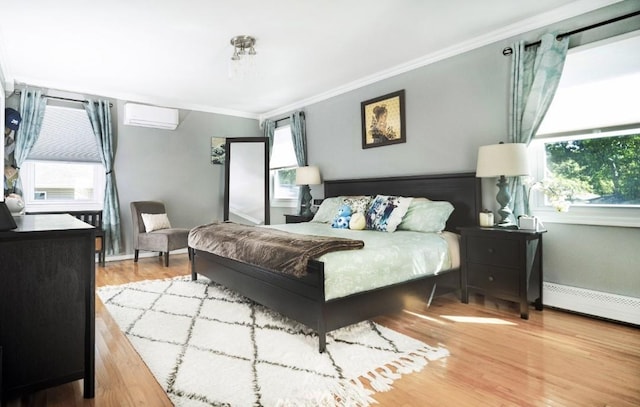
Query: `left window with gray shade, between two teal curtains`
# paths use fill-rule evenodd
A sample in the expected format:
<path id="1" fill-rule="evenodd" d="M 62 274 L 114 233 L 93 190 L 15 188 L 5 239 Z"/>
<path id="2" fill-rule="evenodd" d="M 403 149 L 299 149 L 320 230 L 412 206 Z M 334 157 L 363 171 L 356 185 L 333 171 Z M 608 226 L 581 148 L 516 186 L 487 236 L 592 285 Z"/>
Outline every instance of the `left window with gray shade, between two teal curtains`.
<path id="1" fill-rule="evenodd" d="M 104 166 L 84 109 L 46 107 L 20 177 L 29 212 L 102 209 Z"/>

